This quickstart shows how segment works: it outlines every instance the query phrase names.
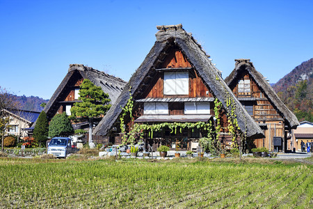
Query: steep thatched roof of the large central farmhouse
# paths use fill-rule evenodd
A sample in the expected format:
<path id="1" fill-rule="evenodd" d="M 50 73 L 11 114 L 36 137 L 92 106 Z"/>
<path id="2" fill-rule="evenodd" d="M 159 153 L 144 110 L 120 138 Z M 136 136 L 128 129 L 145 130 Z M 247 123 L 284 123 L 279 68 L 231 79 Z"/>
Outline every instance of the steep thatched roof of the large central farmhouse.
<path id="1" fill-rule="evenodd" d="M 129 90 L 134 98 L 141 93 L 144 83 L 149 83 L 147 75 L 153 75 L 155 68 L 159 66 L 166 56 L 166 49 L 171 46 L 179 47 L 188 61 L 193 65 L 193 68 L 202 77 L 204 84 L 209 87 L 212 93 L 226 107 L 225 96 L 229 95 L 236 102 L 236 116 L 239 126 L 243 132 L 247 132 L 248 137 L 263 137 L 263 132 L 260 127 L 252 120 L 247 111 L 235 98 L 230 88 L 225 84 L 220 77 L 218 69 L 209 61 L 208 55 L 202 50 L 202 47 L 193 39 L 191 34 L 186 33 L 182 29 L 182 24 L 172 26 L 157 26 L 157 41 L 147 54 L 145 60 L 132 75 L 125 89 L 120 94 L 120 97 L 107 112 L 106 116 L 97 125 L 94 134 L 106 135 L 111 127 L 118 120 L 118 116 L 122 111 L 121 107 L 125 107 L 129 99 Z"/>

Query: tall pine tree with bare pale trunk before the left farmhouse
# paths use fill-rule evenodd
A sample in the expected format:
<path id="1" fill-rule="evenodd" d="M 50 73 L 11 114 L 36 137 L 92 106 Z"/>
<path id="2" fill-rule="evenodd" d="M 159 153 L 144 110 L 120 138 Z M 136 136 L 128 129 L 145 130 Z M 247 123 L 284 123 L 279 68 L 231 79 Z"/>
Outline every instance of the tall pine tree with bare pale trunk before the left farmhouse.
<path id="1" fill-rule="evenodd" d="M 84 79 L 79 89 L 79 100 L 71 109 L 73 117 L 86 119 L 89 122 L 89 146 L 93 144 L 93 119 L 104 115 L 111 107 L 109 95 L 102 91 L 101 87 L 95 86 L 89 79 Z"/>

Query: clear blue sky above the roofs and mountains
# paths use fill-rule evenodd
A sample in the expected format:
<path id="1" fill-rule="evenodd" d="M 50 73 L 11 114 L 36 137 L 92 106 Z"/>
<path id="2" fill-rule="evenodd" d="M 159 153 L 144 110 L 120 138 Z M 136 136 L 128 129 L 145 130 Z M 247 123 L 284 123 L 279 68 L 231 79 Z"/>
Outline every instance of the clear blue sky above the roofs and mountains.
<path id="1" fill-rule="evenodd" d="M 223 78 L 251 59 L 271 83 L 313 57 L 313 1 L 0 0 L 0 86 L 49 99 L 70 63 L 126 81 L 156 40 L 182 23 Z"/>

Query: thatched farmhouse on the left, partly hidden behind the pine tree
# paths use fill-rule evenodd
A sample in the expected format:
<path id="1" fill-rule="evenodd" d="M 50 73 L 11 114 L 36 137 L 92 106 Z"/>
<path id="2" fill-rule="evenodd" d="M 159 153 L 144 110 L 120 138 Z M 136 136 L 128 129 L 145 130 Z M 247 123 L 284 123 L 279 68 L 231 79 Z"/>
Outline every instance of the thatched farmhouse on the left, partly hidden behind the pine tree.
<path id="1" fill-rule="evenodd" d="M 70 109 L 73 104 L 80 102 L 79 86 L 83 82 L 83 79 L 90 79 L 95 86 L 100 86 L 104 93 L 108 93 L 111 104 L 117 100 L 118 95 L 120 95 L 126 84 L 122 79 L 108 75 L 105 72 L 81 64 L 71 64 L 67 75 L 65 75 L 63 81 L 58 88 L 56 88 L 56 91 L 45 106 L 44 111 L 49 120 L 56 114 L 62 114 L 63 112 L 66 112 L 66 114 L 70 116 Z M 101 120 L 101 118 L 99 120 Z M 83 129 L 88 127 L 88 122 L 73 124 L 73 126 L 74 129 Z"/>

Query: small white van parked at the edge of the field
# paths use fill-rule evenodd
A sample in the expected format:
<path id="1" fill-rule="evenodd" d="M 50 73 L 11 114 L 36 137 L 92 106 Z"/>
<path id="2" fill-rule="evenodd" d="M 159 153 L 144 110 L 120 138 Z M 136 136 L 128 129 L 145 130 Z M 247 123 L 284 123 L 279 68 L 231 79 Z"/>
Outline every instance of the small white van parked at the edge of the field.
<path id="1" fill-rule="evenodd" d="M 72 140 L 68 137 L 54 137 L 48 145 L 47 154 L 52 154 L 56 157 L 66 157 L 72 153 Z"/>

